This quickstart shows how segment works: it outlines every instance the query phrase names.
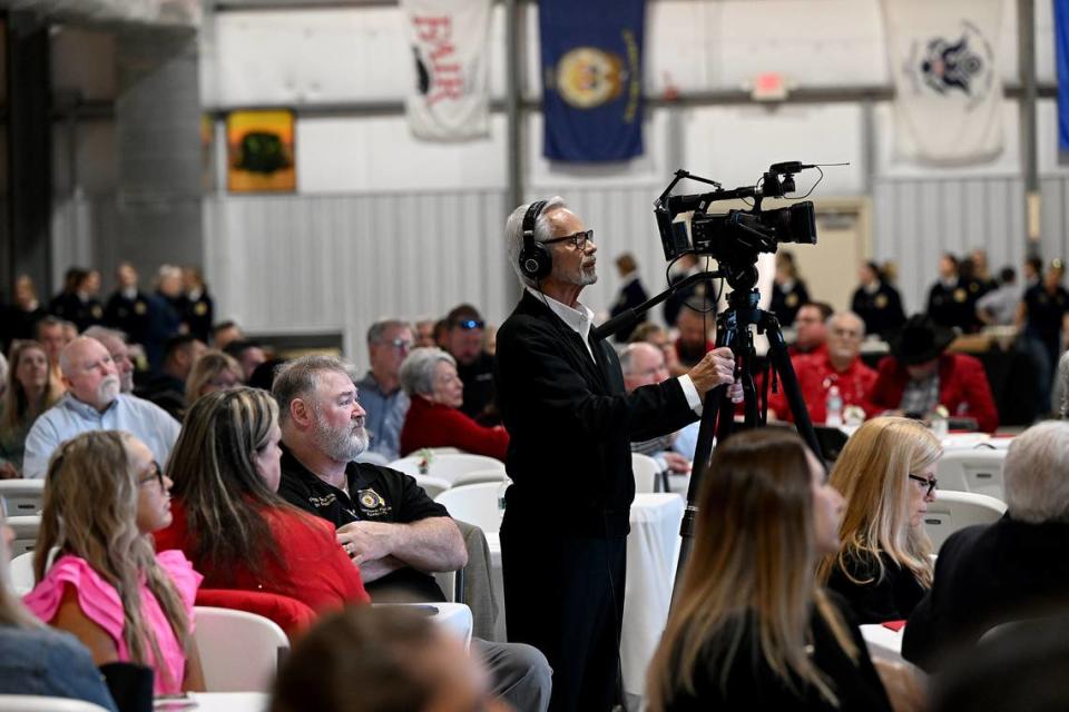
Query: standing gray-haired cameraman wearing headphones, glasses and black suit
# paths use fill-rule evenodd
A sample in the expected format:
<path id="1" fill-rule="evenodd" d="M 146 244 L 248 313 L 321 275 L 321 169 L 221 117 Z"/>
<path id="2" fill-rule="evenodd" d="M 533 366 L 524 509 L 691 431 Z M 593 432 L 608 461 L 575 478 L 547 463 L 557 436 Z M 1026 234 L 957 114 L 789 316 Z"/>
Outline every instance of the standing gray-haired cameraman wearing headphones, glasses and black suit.
<path id="1" fill-rule="evenodd" d="M 509 640 L 549 660 L 550 710 L 607 712 L 621 702 L 630 441 L 694 421 L 707 390 L 734 383 L 735 360 L 716 349 L 689 374 L 626 393 L 579 301 L 598 278 L 594 231 L 556 197 L 513 210 L 506 239 L 526 287 L 498 332 L 494 378 L 511 438 L 500 533 Z"/>

